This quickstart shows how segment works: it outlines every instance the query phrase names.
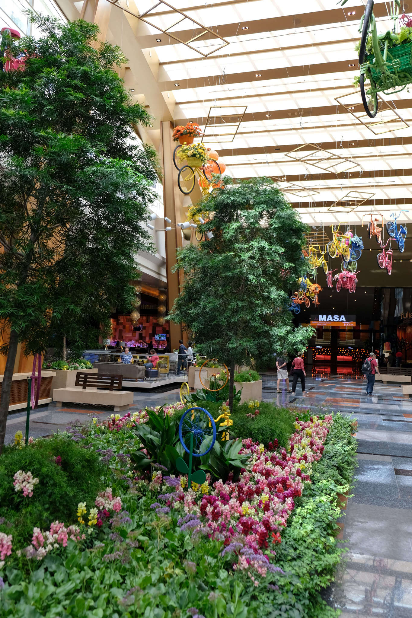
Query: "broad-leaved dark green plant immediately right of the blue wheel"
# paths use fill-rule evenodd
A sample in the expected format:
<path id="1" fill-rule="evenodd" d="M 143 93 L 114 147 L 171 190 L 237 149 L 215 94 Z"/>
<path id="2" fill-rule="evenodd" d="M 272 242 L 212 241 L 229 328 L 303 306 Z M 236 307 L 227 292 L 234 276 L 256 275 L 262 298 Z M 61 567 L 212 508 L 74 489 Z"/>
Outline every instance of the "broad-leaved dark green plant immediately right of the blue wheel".
<path id="1" fill-rule="evenodd" d="M 202 470 L 208 470 L 216 479 L 227 480 L 232 472 L 233 481 L 237 481 L 240 470 L 246 467 L 248 455 L 240 455 L 242 440 L 228 440 L 225 442 L 215 442 L 212 450 L 203 457 L 200 457 Z"/>

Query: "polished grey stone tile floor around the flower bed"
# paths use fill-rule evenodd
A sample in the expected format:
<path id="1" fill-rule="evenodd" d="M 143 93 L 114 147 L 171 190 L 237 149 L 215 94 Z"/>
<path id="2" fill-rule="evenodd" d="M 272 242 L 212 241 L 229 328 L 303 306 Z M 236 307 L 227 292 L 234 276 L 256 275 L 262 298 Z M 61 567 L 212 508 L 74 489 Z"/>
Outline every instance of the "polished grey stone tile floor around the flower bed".
<path id="1" fill-rule="evenodd" d="M 348 554 L 328 596 L 342 609 L 342 618 L 381 616 L 412 618 L 412 399 L 401 386 L 376 383 L 366 397 L 362 376 L 319 371 L 306 381 L 308 395 L 276 392 L 276 376 L 263 376 L 263 399 L 277 405 L 322 412 L 340 411 L 358 420 L 358 469 L 353 496 L 342 510 L 341 536 Z M 179 389 L 134 392 L 132 409 L 179 399 Z M 69 421 L 98 415 L 109 408 L 55 404 L 38 408 L 30 417 L 30 435 L 64 430 Z M 25 429 L 25 412 L 7 420 L 6 441 Z"/>

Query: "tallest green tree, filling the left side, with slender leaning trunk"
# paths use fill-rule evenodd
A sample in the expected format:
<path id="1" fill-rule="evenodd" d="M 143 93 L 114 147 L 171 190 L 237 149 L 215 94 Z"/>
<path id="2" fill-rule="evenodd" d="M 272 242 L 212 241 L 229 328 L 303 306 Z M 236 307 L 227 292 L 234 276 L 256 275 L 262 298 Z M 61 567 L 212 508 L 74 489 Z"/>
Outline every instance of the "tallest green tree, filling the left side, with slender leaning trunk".
<path id="1" fill-rule="evenodd" d="M 125 57 L 96 24 L 32 20 L 39 40 L 7 41 L 25 66 L 0 72 L 0 452 L 19 342 L 42 352 L 53 328 L 87 344 L 113 305 L 131 305 L 135 253 L 151 250 L 156 172 L 132 129 L 151 118 L 114 70 Z"/>

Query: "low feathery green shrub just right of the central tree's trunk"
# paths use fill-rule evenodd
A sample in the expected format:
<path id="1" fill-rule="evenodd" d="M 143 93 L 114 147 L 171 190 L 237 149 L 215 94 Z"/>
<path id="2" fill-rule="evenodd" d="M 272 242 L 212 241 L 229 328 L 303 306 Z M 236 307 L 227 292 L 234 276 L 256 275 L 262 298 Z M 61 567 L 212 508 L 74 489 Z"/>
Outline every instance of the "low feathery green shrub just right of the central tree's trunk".
<path id="1" fill-rule="evenodd" d="M 254 412 L 258 410 L 258 414 Z M 248 415 L 253 415 L 252 418 Z M 285 447 L 288 439 L 294 431 L 295 413 L 288 408 L 278 408 L 269 402 L 259 402 L 259 407 L 248 403 L 235 405 L 233 414 L 232 431 L 239 438 L 251 438 L 253 442 L 259 442 L 269 446 L 269 442 L 278 441 L 280 446 Z"/>

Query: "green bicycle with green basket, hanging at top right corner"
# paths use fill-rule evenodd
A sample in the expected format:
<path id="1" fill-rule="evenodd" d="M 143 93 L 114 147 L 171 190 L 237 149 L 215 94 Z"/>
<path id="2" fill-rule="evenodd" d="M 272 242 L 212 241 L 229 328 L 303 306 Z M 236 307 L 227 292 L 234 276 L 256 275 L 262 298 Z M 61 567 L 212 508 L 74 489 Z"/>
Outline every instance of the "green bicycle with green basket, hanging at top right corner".
<path id="1" fill-rule="evenodd" d="M 390 11 L 393 31 L 387 30 L 382 35 L 378 35 L 376 31 L 373 5 L 374 1 L 368 0 L 359 24 L 359 32 L 362 33 L 359 48 L 359 86 L 364 109 L 371 118 L 376 116 L 378 92 L 390 95 L 401 92 L 412 83 L 412 41 L 402 41 L 396 33 L 399 0 L 393 0 Z M 369 36 L 371 38 L 368 41 Z M 371 44 L 371 53 L 368 53 Z"/>

